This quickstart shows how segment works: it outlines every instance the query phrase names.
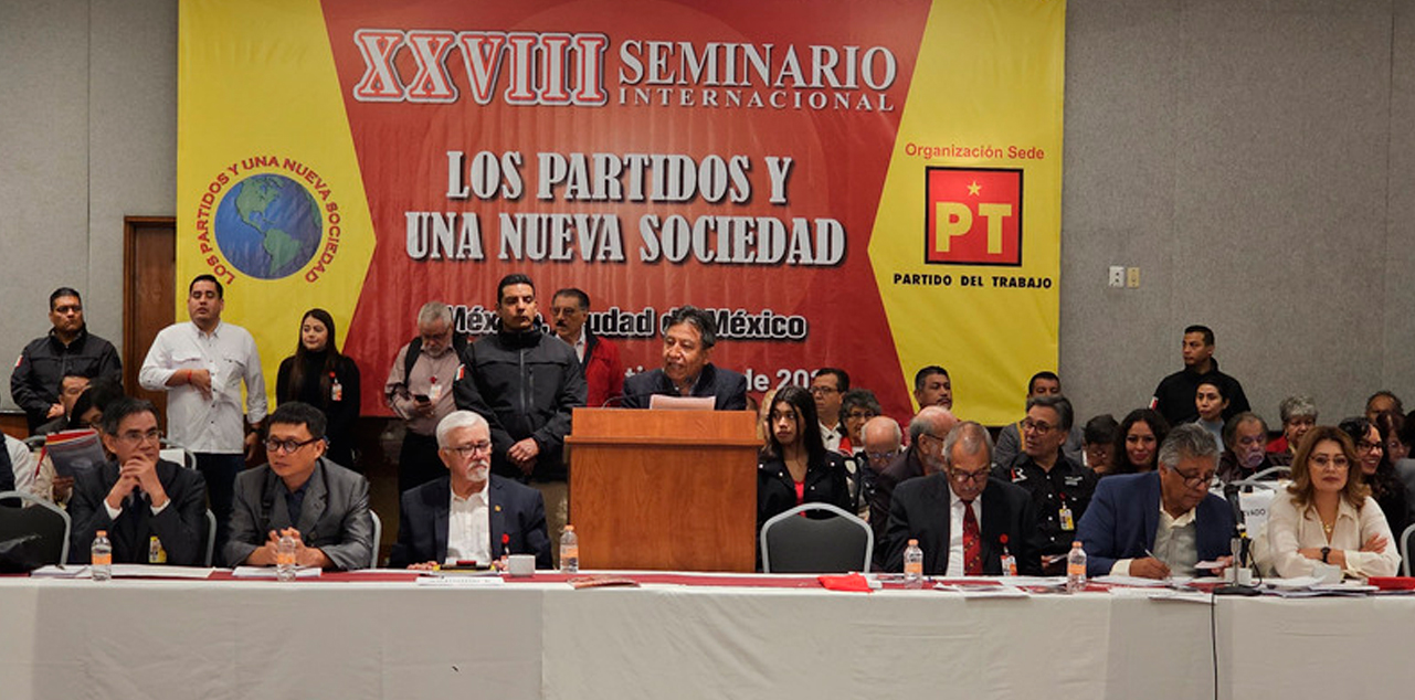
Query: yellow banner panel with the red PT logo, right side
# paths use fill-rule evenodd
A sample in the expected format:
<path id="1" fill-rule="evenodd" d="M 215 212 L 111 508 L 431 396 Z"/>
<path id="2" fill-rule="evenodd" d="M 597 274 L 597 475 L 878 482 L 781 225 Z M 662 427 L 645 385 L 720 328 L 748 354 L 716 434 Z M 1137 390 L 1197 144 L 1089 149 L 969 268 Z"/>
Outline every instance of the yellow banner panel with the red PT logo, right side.
<path id="1" fill-rule="evenodd" d="M 870 239 L 904 380 L 985 424 L 1057 365 L 1064 47 L 1064 1 L 937 0 Z"/>

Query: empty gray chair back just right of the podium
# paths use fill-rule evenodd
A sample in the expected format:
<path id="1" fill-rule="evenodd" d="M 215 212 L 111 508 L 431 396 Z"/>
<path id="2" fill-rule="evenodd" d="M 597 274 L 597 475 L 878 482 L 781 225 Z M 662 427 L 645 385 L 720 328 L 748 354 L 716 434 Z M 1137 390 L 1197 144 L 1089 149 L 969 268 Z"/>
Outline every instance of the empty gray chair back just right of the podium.
<path id="1" fill-rule="evenodd" d="M 802 503 L 761 526 L 761 567 L 767 573 L 866 573 L 873 556 L 870 526 L 831 503 Z"/>

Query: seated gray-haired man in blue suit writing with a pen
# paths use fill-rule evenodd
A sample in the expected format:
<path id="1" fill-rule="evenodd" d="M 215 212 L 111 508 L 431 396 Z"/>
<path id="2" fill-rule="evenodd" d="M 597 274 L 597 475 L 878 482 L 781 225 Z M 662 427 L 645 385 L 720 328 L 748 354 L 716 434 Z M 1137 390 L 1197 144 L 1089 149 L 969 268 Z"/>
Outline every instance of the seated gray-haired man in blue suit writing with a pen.
<path id="1" fill-rule="evenodd" d="M 1208 492 L 1217 468 L 1213 434 L 1186 423 L 1165 438 L 1157 469 L 1101 479 L 1077 530 L 1085 574 L 1167 578 L 1231 560 L 1232 509 Z"/>

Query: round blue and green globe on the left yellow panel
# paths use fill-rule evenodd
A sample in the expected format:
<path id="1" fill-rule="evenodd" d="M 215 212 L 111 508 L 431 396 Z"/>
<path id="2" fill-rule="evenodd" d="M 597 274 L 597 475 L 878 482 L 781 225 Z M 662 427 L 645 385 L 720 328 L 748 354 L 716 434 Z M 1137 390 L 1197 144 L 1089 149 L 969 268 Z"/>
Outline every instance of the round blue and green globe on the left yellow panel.
<path id="1" fill-rule="evenodd" d="M 262 280 L 300 272 L 324 235 L 320 205 L 284 175 L 236 182 L 216 206 L 216 245 L 238 270 Z"/>

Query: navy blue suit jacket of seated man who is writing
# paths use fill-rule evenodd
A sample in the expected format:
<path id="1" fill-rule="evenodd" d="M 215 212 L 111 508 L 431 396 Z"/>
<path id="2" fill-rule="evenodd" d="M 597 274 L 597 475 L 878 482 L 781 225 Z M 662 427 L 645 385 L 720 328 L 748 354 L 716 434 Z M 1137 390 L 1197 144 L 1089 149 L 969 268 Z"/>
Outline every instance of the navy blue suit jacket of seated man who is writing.
<path id="1" fill-rule="evenodd" d="M 1159 527 L 1159 472 L 1118 474 L 1101 479 L 1081 516 L 1077 539 L 1085 547 L 1085 574 L 1107 576 L 1118 559 L 1142 559 L 1155 549 Z M 1194 508 L 1194 546 L 1199 560 L 1232 553 L 1234 515 L 1228 503 L 1208 494 Z"/>

